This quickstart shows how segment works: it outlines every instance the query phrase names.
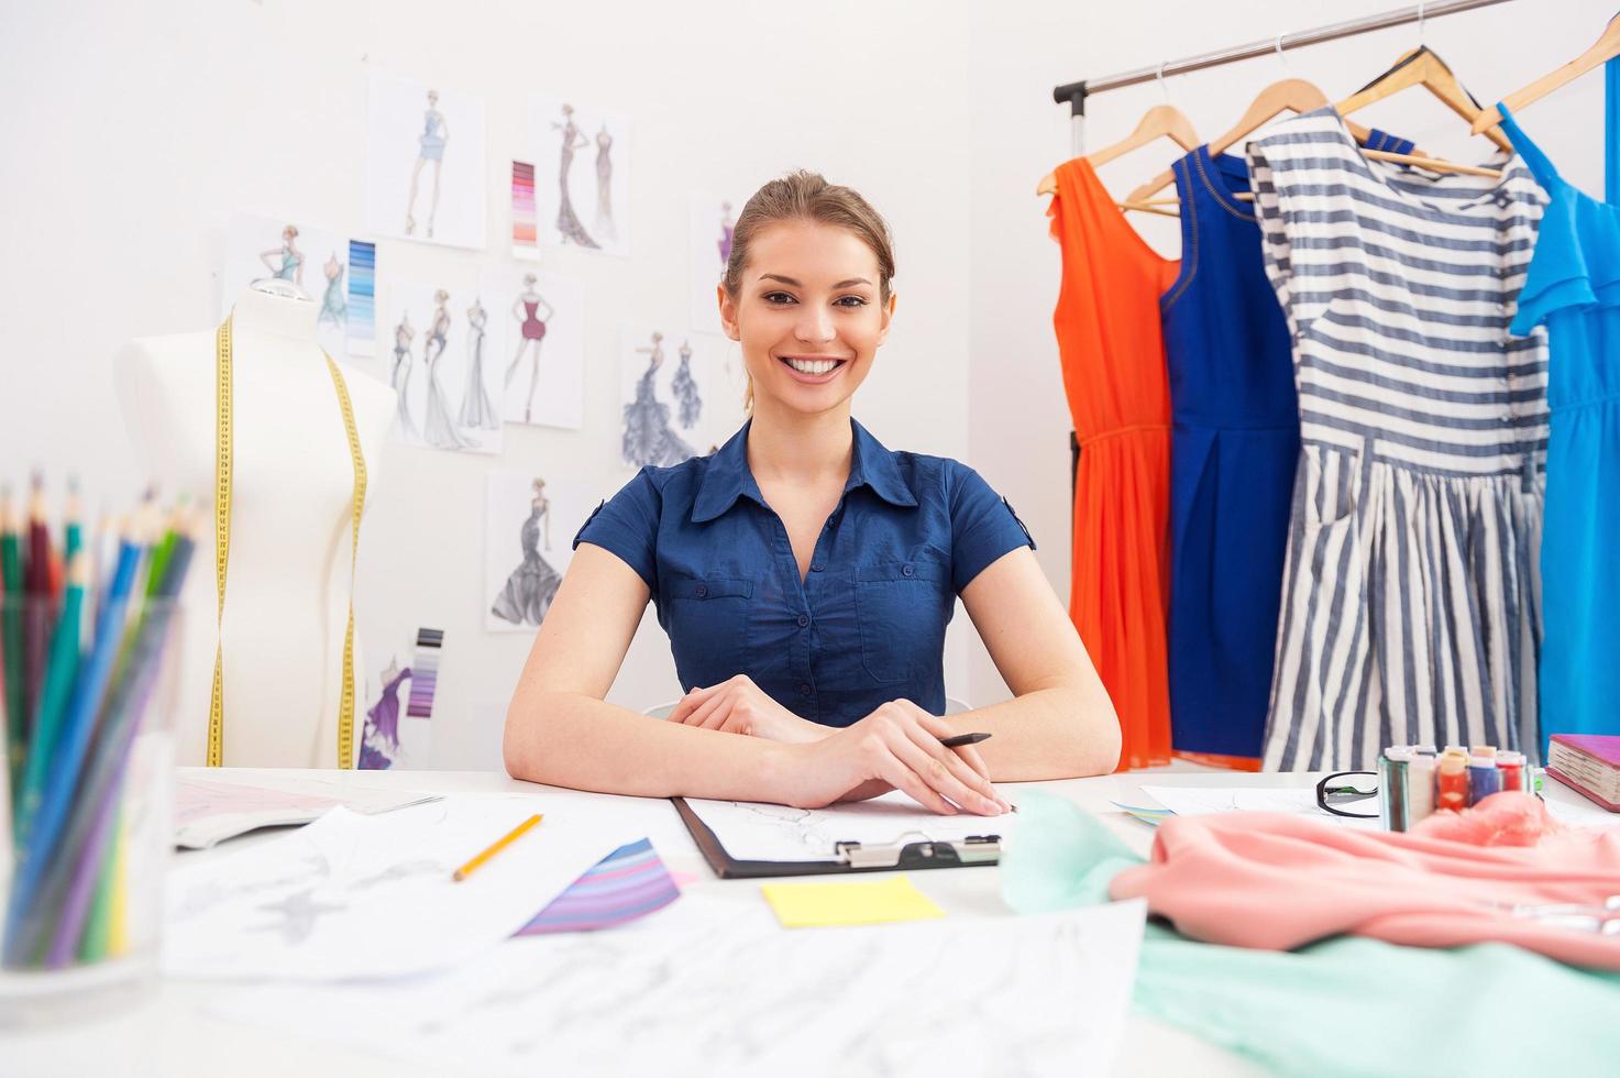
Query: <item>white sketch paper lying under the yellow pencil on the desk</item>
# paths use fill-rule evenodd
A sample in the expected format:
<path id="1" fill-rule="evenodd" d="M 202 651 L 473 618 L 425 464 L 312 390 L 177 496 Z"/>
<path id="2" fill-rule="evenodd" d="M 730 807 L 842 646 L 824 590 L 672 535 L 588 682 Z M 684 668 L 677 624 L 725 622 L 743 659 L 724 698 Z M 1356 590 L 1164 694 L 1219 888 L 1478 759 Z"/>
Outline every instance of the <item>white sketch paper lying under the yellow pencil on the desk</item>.
<path id="1" fill-rule="evenodd" d="M 535 812 L 544 822 L 467 880 L 450 874 Z M 342 806 L 284 838 L 181 861 L 164 969 L 335 981 L 437 969 L 517 932 L 582 872 L 645 833 L 562 796 L 455 796 L 384 815 Z"/>

